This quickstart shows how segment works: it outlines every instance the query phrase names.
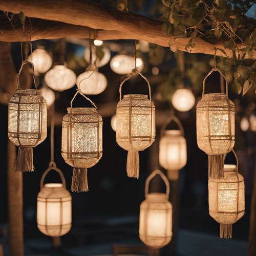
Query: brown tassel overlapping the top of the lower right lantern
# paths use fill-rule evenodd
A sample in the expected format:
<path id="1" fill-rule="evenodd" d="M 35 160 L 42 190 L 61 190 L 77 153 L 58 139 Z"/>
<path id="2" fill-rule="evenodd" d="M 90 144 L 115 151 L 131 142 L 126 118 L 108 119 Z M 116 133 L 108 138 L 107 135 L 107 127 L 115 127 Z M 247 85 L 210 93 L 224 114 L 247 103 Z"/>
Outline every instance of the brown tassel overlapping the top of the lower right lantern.
<path id="1" fill-rule="evenodd" d="M 209 176 L 212 179 L 224 178 L 223 155 L 209 155 Z"/>

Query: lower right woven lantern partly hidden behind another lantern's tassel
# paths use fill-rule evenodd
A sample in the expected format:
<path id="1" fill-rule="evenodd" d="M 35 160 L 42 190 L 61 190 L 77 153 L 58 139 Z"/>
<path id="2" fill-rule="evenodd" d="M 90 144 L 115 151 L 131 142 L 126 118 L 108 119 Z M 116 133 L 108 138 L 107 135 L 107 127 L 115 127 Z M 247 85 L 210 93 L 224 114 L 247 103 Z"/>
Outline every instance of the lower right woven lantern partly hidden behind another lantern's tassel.
<path id="1" fill-rule="evenodd" d="M 244 178 L 238 173 L 238 159 L 237 165 L 224 165 L 223 179 L 209 178 L 208 192 L 209 214 L 220 223 L 220 237 L 232 238 L 232 224 L 245 212 Z"/>

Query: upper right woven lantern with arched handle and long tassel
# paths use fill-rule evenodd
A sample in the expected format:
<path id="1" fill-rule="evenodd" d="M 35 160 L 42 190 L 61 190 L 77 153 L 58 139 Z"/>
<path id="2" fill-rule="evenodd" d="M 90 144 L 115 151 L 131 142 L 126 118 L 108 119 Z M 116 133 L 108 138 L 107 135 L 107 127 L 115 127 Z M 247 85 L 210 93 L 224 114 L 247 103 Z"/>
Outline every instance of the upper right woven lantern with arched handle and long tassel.
<path id="1" fill-rule="evenodd" d="M 204 78 L 202 99 L 197 104 L 197 144 L 209 155 L 209 175 L 211 178 L 223 178 L 223 155 L 234 146 L 234 103 L 228 98 L 228 84 L 225 93 L 204 94 Z"/>

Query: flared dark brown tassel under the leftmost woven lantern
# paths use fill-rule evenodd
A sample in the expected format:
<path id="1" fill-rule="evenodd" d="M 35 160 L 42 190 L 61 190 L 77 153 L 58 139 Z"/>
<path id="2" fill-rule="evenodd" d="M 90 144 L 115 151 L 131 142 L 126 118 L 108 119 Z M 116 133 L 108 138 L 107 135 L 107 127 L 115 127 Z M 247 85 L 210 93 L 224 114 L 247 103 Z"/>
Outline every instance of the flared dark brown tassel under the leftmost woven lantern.
<path id="1" fill-rule="evenodd" d="M 33 148 L 19 147 L 18 156 L 13 165 L 14 172 L 34 172 Z"/>

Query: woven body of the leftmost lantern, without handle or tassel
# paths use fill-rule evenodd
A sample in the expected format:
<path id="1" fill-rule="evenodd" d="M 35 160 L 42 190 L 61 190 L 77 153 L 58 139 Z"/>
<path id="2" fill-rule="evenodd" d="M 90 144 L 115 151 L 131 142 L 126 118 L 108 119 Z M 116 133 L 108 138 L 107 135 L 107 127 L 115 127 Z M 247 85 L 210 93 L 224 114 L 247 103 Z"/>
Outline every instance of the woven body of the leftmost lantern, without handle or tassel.
<path id="1" fill-rule="evenodd" d="M 46 136 L 47 104 L 41 90 L 16 90 L 9 101 L 9 139 L 17 146 L 35 147 Z"/>

